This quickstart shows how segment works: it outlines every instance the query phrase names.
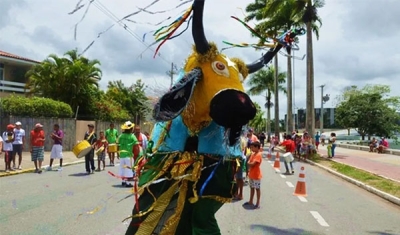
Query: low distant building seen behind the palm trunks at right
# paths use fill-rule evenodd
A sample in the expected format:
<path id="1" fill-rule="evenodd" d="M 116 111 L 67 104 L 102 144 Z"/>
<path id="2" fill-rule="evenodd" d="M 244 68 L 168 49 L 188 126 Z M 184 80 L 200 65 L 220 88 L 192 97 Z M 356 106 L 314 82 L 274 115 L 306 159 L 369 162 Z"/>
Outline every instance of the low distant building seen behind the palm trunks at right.
<path id="1" fill-rule="evenodd" d="M 336 108 L 324 108 L 324 128 L 340 128 L 335 123 L 335 110 Z M 321 108 L 315 109 L 315 128 L 320 128 L 320 115 Z M 285 114 L 285 123 L 287 115 Z M 294 114 L 295 129 L 303 129 L 306 124 L 306 110 L 298 109 Z"/>

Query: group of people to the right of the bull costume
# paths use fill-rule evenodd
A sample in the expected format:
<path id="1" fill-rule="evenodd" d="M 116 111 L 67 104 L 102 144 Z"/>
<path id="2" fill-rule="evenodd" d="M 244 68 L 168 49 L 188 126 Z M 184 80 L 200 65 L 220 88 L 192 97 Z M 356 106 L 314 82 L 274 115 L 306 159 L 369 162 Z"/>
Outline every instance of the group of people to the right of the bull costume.
<path id="1" fill-rule="evenodd" d="M 240 166 L 235 174 L 237 191 L 233 197 L 233 200 L 242 200 L 243 187 L 245 185 L 249 185 L 250 197 L 249 200 L 244 203 L 244 206 L 249 206 L 254 209 L 260 208 L 260 187 L 262 179 L 261 162 L 263 147 L 266 139 L 267 137 L 263 132 L 257 135 L 254 134 L 253 129 L 250 128 L 240 140 L 243 155 Z M 280 148 L 280 150 L 284 151 L 283 157 L 285 160 L 283 163 L 286 169 L 285 174 L 293 175 L 293 161 L 295 157 L 297 157 L 299 160 L 308 159 L 311 154 L 318 151 L 318 146 L 320 143 L 325 145 L 325 140 L 328 140 L 328 157 L 332 158 L 335 156 L 336 148 L 335 133 L 331 133 L 330 137 L 327 138 L 325 135 L 321 136 L 320 133 L 317 132 L 314 138 L 312 138 L 307 131 L 304 131 L 302 134 L 300 134 L 296 130 L 291 134 L 284 133 L 283 140 L 281 142 L 279 137 L 272 136 L 267 151 L 268 154 L 272 154 L 272 152 L 276 151 L 276 148 Z"/>

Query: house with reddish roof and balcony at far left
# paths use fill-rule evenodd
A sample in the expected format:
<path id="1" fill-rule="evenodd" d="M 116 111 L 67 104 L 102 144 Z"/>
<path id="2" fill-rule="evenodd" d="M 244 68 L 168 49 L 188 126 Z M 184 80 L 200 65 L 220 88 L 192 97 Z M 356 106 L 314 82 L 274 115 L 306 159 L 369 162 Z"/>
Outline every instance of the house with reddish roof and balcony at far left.
<path id="1" fill-rule="evenodd" d="M 26 72 L 40 62 L 0 50 L 0 98 L 28 92 Z"/>

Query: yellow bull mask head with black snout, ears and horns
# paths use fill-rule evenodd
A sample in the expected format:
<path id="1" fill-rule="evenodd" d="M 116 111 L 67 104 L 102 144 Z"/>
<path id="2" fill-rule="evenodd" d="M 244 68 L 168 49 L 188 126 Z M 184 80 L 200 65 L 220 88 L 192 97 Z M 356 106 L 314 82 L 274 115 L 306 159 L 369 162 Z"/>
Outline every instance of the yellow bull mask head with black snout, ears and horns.
<path id="1" fill-rule="evenodd" d="M 271 49 L 250 65 L 237 58 L 229 59 L 205 37 L 204 0 L 195 0 L 192 10 L 194 47 L 184 66 L 185 75 L 160 98 L 153 117 L 156 121 L 168 121 L 182 115 L 193 133 L 211 121 L 238 133 L 256 114 L 242 82 L 249 73 L 264 67 L 280 48 Z M 235 141 L 236 138 L 230 140 L 230 144 Z"/>

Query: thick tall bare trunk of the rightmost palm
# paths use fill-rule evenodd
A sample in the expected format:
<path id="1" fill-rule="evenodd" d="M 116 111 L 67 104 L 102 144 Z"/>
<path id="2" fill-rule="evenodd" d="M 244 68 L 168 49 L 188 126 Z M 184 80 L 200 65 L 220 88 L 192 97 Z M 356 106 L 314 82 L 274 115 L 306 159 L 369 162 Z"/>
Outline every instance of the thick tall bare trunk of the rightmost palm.
<path id="1" fill-rule="evenodd" d="M 310 136 L 315 132 L 315 110 L 314 110 L 314 64 L 312 49 L 311 22 L 307 26 L 307 108 L 306 108 L 306 130 Z"/>

